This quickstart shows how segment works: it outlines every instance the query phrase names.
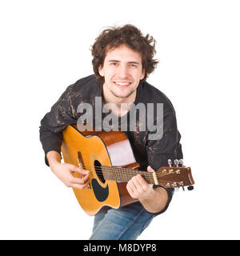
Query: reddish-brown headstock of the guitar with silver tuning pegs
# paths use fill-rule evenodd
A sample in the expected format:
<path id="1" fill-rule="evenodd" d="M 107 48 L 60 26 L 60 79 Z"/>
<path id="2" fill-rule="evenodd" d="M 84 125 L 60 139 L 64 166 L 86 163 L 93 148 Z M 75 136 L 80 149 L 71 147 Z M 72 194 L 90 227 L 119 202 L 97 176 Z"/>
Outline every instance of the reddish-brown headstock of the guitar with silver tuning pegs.
<path id="1" fill-rule="evenodd" d="M 168 160 L 169 166 L 164 166 L 158 169 L 156 176 L 158 179 L 158 184 L 165 188 L 178 188 L 188 186 L 188 190 L 193 190 L 194 178 L 191 173 L 190 167 L 183 166 L 182 159 L 174 160 L 174 165 Z"/>

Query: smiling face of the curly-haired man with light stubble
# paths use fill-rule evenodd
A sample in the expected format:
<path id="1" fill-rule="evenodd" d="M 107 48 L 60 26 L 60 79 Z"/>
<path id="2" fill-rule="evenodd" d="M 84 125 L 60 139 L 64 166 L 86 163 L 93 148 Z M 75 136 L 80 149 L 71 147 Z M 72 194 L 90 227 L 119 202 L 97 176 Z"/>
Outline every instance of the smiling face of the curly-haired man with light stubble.
<path id="1" fill-rule="evenodd" d="M 104 77 L 103 97 L 106 102 L 134 102 L 136 89 L 145 72 L 142 57 L 126 45 L 107 51 L 103 66 L 98 69 Z"/>

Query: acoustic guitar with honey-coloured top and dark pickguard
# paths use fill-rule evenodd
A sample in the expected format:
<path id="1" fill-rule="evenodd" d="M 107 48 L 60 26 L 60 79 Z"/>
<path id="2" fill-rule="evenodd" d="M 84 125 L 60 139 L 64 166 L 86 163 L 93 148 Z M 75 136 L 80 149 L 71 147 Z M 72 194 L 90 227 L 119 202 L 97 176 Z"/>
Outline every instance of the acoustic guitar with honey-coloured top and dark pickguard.
<path id="1" fill-rule="evenodd" d="M 126 183 L 141 174 L 146 182 L 165 188 L 194 184 L 190 167 L 166 166 L 156 172 L 138 170 L 139 164 L 126 134 L 122 131 L 84 131 L 76 125 L 62 132 L 64 162 L 90 171 L 90 182 L 82 190 L 73 189 L 86 214 L 94 215 L 103 206 L 119 207 L 137 202 L 126 190 Z M 75 177 L 80 174 L 74 173 Z"/>

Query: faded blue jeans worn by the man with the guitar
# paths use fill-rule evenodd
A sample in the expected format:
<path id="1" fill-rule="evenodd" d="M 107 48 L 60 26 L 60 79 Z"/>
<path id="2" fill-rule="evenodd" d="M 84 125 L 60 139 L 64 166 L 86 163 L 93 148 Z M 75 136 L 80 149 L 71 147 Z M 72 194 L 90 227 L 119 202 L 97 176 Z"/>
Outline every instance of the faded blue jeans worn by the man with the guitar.
<path id="1" fill-rule="evenodd" d="M 140 202 L 119 209 L 102 209 L 95 215 L 90 240 L 135 240 L 154 216 Z"/>

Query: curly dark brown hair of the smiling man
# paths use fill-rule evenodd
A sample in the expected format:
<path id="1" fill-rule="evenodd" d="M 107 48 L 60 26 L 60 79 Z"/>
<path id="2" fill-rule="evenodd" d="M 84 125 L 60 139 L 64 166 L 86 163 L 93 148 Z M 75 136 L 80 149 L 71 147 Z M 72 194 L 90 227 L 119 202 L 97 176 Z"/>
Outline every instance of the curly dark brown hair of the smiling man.
<path id="1" fill-rule="evenodd" d="M 142 56 L 142 69 L 145 70 L 146 78 L 152 73 L 158 64 L 158 60 L 154 59 L 155 39 L 147 34 L 145 37 L 136 26 L 127 24 L 122 27 L 110 27 L 103 30 L 96 38 L 94 45 L 91 47 L 93 55 L 92 64 L 94 66 L 94 74 L 99 82 L 104 82 L 104 78 L 98 73 L 99 66 L 103 66 L 107 51 L 116 48 L 122 44 L 126 44 L 130 49 L 138 51 Z"/>

